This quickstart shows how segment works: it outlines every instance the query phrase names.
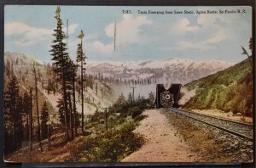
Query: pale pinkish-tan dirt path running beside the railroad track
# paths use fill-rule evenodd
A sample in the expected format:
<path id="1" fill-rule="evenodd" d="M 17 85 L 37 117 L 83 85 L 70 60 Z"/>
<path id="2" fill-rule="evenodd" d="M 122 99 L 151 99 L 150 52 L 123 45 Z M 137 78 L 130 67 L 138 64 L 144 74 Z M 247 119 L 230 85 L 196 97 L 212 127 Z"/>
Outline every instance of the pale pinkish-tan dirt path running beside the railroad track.
<path id="1" fill-rule="evenodd" d="M 141 121 L 135 132 L 139 132 L 147 142 L 137 152 L 122 162 L 195 162 L 200 160 L 183 142 L 177 131 L 169 124 L 162 109 L 150 109 L 143 112 L 148 117 Z"/>

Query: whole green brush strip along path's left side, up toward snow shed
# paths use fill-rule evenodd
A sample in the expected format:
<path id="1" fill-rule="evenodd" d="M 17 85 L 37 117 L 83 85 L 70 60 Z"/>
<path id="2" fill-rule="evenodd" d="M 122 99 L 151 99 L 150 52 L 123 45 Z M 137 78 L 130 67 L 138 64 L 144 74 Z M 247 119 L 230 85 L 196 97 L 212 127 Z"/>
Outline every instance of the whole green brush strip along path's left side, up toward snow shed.
<path id="1" fill-rule="evenodd" d="M 144 138 L 132 132 L 144 109 L 150 107 L 148 99 L 141 99 L 137 104 L 129 104 L 123 94 L 113 106 L 108 108 L 108 132 L 106 125 L 106 113 L 96 110 L 90 116 L 90 122 L 86 130 L 92 132 L 92 136 L 75 139 L 75 148 L 67 161 L 120 161 L 125 156 L 133 153 L 144 143 Z"/>

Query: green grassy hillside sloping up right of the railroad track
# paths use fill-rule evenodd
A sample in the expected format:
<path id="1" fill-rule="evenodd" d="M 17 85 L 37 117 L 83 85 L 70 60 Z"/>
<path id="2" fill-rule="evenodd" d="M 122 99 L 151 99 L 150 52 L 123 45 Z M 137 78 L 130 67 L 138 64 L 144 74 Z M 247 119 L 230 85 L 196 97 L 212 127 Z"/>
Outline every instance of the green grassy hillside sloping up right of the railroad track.
<path id="1" fill-rule="evenodd" d="M 248 59 L 216 74 L 186 84 L 195 96 L 186 109 L 220 109 L 233 114 L 253 115 L 253 74 Z"/>

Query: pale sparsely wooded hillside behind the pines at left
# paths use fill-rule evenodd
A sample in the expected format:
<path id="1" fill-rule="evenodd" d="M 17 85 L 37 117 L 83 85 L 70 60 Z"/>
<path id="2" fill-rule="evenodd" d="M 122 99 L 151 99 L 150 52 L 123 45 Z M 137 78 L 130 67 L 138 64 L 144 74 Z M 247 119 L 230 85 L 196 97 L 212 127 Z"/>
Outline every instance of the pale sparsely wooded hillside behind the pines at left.
<path id="1" fill-rule="evenodd" d="M 59 92 L 54 92 L 49 90 L 49 87 L 54 85 L 55 76 L 50 72 L 49 64 L 42 64 L 40 60 L 28 56 L 23 53 L 4 53 L 4 64 L 5 64 L 5 76 L 4 76 L 4 90 L 7 89 L 9 83 L 9 77 L 11 70 L 14 71 L 15 76 L 19 81 L 20 95 L 23 95 L 25 92 L 29 92 L 29 88 L 34 88 L 34 74 L 33 67 L 38 70 L 38 104 L 39 111 L 43 107 L 44 101 L 47 102 L 49 107 L 49 114 L 56 116 L 58 120 L 58 108 L 57 101 L 61 98 Z M 95 87 L 86 87 L 85 93 L 85 104 L 84 111 L 85 115 L 94 114 L 96 109 L 103 109 L 113 104 L 113 91 L 108 88 L 99 80 L 94 81 L 94 85 L 97 85 L 98 89 L 104 90 L 104 95 L 99 92 L 96 92 Z M 80 113 L 81 111 L 81 96 L 79 92 L 76 92 L 77 99 L 77 108 Z M 35 105 L 35 102 L 34 104 Z M 33 108 L 33 114 L 36 114 L 36 108 Z"/>

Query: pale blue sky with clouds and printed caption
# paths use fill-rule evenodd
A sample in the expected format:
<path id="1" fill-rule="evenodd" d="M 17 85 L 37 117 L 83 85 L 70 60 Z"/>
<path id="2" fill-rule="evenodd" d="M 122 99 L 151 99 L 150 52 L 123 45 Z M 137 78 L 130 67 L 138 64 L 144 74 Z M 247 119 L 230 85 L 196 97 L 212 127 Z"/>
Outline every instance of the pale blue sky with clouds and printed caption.
<path id="1" fill-rule="evenodd" d="M 4 8 L 4 52 L 32 55 L 49 61 L 56 6 L 7 5 Z M 122 10 L 132 14 L 123 14 Z M 141 11 L 207 11 L 244 9 L 240 14 L 138 14 Z M 219 12 L 218 12 L 219 13 Z M 101 7 L 61 6 L 66 31 L 69 21 L 68 53 L 74 59 L 84 31 L 88 60 L 246 59 L 252 37 L 249 7 Z M 113 30 L 116 21 L 116 51 Z"/>

